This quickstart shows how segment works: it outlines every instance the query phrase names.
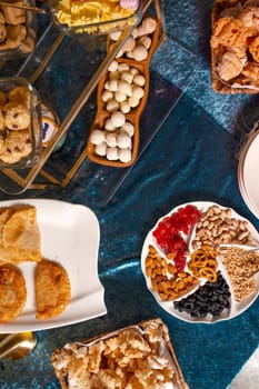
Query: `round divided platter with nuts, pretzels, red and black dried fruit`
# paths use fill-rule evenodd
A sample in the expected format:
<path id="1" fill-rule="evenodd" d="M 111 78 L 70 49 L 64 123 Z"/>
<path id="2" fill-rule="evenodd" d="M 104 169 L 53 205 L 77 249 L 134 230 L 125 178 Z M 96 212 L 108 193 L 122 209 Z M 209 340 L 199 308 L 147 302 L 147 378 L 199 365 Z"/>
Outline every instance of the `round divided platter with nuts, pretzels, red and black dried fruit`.
<path id="1" fill-rule="evenodd" d="M 147 235 L 146 283 L 159 306 L 197 323 L 229 320 L 259 293 L 259 235 L 233 209 L 191 202 L 172 209 Z"/>

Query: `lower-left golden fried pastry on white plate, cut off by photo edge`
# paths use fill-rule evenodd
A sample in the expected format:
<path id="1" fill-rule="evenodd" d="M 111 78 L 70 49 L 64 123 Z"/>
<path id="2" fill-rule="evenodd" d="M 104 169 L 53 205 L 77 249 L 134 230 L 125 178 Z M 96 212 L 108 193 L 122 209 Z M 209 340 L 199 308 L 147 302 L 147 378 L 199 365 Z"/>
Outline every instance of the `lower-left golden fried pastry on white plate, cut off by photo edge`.
<path id="1" fill-rule="evenodd" d="M 0 266 L 0 322 L 13 320 L 21 313 L 27 299 L 26 281 L 20 270 Z"/>

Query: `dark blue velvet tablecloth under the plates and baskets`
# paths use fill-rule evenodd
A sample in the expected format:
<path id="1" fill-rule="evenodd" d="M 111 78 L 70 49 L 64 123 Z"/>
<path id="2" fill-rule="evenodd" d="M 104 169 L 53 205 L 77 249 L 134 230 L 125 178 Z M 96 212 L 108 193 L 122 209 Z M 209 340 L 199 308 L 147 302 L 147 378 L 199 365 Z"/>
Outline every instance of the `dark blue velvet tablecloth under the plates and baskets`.
<path id="1" fill-rule="evenodd" d="M 171 93 L 162 99 L 163 108 L 170 103 L 162 126 L 153 132 L 138 162 L 122 178 L 116 178 L 116 188 L 110 192 L 106 188 L 109 194 L 99 192 L 103 188 L 98 189 L 98 177 L 101 180 L 107 174 L 111 179 L 112 169 L 96 168 L 86 161 L 68 188 L 28 190 L 21 196 L 82 203 L 96 212 L 101 230 L 99 275 L 108 313 L 79 325 L 39 331 L 37 348 L 26 359 L 0 360 L 1 389 L 58 389 L 50 365 L 54 348 L 153 317 L 160 317 L 169 327 L 191 389 L 227 388 L 258 347 L 259 299 L 232 320 L 215 325 L 183 322 L 156 303 L 140 268 L 147 232 L 158 218 L 180 203 L 215 201 L 232 207 L 259 228 L 259 220 L 241 198 L 237 178 L 240 144 L 251 119 L 257 117 L 258 98 L 212 92 L 208 47 L 211 7 L 212 1 L 165 1 L 169 39 L 153 58 L 151 77 L 157 87 Z M 178 57 L 177 51 L 170 51 L 176 44 Z M 182 77 L 168 60 L 171 58 L 177 68 L 182 67 Z M 156 113 L 150 104 L 143 130 Z M 58 157 L 53 163 L 58 163 Z M 96 169 L 92 179 L 86 174 L 90 168 Z M 0 194 L 1 200 L 13 198 Z"/>

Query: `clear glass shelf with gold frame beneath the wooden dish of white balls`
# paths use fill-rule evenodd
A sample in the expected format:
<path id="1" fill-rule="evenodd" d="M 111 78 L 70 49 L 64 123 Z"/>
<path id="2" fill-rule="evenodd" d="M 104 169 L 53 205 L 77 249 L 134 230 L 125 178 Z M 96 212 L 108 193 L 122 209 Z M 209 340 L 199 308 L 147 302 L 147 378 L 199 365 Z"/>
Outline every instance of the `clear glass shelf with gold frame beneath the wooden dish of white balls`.
<path id="1" fill-rule="evenodd" d="M 161 2 L 143 1 L 145 13 L 155 14 L 161 21 L 161 28 L 158 48 L 150 66 L 150 92 L 141 116 L 138 159 L 179 101 L 196 71 L 195 56 L 166 38 Z M 43 149 L 37 166 L 28 170 L 8 169 L 0 172 L 0 190 L 8 194 L 20 194 L 29 189 L 62 189 L 68 184 L 77 186 L 82 177 L 87 177 L 88 190 L 94 192 L 94 205 L 104 205 L 112 198 L 133 166 L 109 168 L 93 163 L 87 157 L 86 147 L 97 110 L 96 87 L 132 28 L 123 30 L 113 50 L 107 53 L 107 36 L 86 37 L 82 44 L 49 23 L 34 52 L 23 62 L 17 76 L 27 78 L 36 87 L 42 102 L 58 114 L 60 128 L 50 144 Z M 165 66 L 161 69 L 160 58 L 165 58 L 168 52 L 171 53 L 170 59 L 163 61 L 168 69 Z M 182 67 L 182 63 L 192 66 Z M 180 73 L 179 66 L 182 68 Z M 170 72 L 170 81 L 163 77 L 167 72 Z M 64 136 L 63 146 L 53 152 L 56 144 Z"/>

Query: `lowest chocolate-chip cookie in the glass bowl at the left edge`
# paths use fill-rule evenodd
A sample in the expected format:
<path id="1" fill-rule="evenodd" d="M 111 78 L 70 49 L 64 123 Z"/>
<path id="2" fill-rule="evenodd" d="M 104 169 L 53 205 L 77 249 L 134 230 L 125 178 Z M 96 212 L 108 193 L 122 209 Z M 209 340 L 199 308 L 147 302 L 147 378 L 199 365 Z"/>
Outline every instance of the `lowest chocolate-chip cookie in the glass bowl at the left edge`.
<path id="1" fill-rule="evenodd" d="M 16 163 L 32 151 L 29 130 L 10 131 L 4 140 L 0 159 L 4 163 Z"/>

